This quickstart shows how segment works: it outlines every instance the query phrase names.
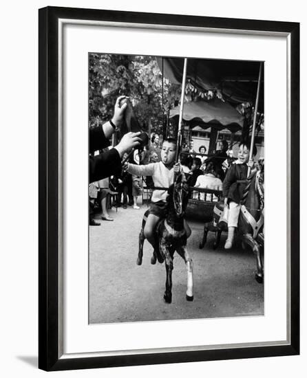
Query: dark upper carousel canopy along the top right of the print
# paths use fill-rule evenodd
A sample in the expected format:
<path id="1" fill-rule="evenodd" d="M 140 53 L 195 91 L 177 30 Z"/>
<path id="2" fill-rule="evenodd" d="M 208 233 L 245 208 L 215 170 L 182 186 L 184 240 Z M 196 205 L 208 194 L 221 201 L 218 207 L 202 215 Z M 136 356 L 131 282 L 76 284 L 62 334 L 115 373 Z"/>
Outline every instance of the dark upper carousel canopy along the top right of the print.
<path id="1" fill-rule="evenodd" d="M 157 62 L 165 78 L 181 85 L 183 58 L 159 57 Z M 234 104 L 255 103 L 259 69 L 257 61 L 188 58 L 187 80 L 200 91 L 220 91 L 224 100 Z M 262 92 L 259 109 L 263 109 Z"/>

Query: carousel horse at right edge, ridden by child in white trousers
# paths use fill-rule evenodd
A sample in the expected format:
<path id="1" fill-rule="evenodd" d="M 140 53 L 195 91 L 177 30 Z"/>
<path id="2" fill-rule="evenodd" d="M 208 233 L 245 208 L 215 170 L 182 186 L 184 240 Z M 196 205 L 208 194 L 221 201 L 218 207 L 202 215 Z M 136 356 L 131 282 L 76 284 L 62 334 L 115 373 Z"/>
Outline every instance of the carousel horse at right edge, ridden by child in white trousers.
<path id="1" fill-rule="evenodd" d="M 264 269 L 261 252 L 264 247 L 264 166 L 254 175 L 246 180 L 239 220 L 237 223 L 237 235 L 240 236 L 242 244 L 248 245 L 253 250 L 257 261 L 257 272 L 255 279 L 262 283 L 264 279 Z M 223 231 L 227 231 L 227 220 L 224 214 L 224 203 L 217 203 L 213 209 L 213 220 L 204 225 L 204 236 L 200 243 L 200 248 L 207 241 L 208 231 L 215 232 L 213 248 L 218 247 L 220 236 Z"/>

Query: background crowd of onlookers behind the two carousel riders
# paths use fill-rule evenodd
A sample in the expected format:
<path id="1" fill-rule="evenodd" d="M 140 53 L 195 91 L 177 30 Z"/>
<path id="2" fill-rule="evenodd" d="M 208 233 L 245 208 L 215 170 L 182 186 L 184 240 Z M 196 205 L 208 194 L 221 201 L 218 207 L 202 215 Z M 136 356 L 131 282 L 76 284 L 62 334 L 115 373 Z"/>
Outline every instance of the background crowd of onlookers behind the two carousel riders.
<path id="1" fill-rule="evenodd" d="M 133 164 L 146 165 L 161 161 L 160 135 L 151 135 L 150 143 L 142 148 L 136 148 L 133 154 L 123 153 L 121 162 L 128 161 Z M 180 165 L 187 177 L 189 186 L 201 189 L 222 190 L 226 170 L 233 163 L 229 157 L 228 144 L 222 141 L 222 148 L 208 157 L 207 148 L 200 146 L 198 153 L 193 150 L 193 145 L 185 152 L 180 154 Z M 223 159 L 224 158 L 224 159 Z M 141 177 L 131 175 L 120 166 L 116 174 L 110 175 L 105 179 L 94 181 L 89 186 L 90 203 L 95 204 L 101 212 L 103 221 L 113 221 L 109 215 L 109 208 L 112 205 L 127 209 L 128 206 L 139 210 L 138 198 L 146 188 L 147 199 L 154 188 L 154 181 L 151 176 Z M 191 194 L 193 198 L 204 199 L 204 192 L 195 190 Z M 218 197 L 215 197 L 217 200 Z"/>

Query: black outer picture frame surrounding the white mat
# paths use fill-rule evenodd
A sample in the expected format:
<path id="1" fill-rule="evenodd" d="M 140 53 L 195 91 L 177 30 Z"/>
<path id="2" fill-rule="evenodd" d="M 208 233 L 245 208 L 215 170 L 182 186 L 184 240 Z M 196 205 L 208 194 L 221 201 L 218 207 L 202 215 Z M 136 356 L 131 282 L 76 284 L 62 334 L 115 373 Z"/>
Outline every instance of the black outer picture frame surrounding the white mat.
<path id="1" fill-rule="evenodd" d="M 287 345 L 65 357 L 59 323 L 59 19 L 286 33 L 290 41 L 290 335 Z M 195 349 L 195 348 L 194 348 Z M 47 7 L 39 10 L 39 368 L 66 370 L 299 354 L 299 23 Z"/>

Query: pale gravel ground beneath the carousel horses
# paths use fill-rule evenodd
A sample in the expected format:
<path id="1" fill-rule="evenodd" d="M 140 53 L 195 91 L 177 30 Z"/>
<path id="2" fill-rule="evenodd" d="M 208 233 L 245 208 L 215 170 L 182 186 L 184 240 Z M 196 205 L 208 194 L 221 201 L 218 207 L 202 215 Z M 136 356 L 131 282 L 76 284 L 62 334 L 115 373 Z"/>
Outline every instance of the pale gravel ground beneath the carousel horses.
<path id="1" fill-rule="evenodd" d="M 89 322 L 224 318 L 264 315 L 264 285 L 255 281 L 255 257 L 249 250 L 212 248 L 209 233 L 204 249 L 198 245 L 202 224 L 191 222 L 188 250 L 193 259 L 193 302 L 187 302 L 187 271 L 176 254 L 173 302 L 163 300 L 165 265 L 151 265 L 152 248 L 145 241 L 142 265 L 136 265 L 138 233 L 146 210 L 128 207 L 110 211 L 113 222 L 89 227 Z M 99 216 L 96 216 L 99 220 Z"/>

